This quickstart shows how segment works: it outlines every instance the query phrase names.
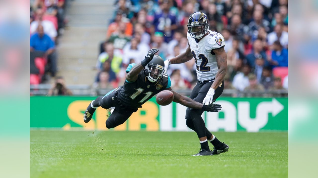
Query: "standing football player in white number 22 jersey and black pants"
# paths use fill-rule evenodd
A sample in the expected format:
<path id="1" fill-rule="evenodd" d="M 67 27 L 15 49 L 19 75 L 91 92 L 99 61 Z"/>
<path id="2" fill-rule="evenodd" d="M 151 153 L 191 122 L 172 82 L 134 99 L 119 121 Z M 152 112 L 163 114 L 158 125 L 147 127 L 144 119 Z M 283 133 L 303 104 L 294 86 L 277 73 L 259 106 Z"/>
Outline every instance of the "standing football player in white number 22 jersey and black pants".
<path id="1" fill-rule="evenodd" d="M 209 30 L 208 17 L 203 12 L 194 12 L 188 20 L 188 45 L 185 53 L 165 61 L 165 71 L 170 64 L 180 64 L 194 58 L 197 66 L 197 84 L 190 98 L 205 105 L 213 103 L 223 92 L 223 79 L 226 74 L 226 53 L 224 37 Z M 229 147 L 220 142 L 205 127 L 201 115 L 203 110 L 187 108 L 186 124 L 197 132 L 201 151 L 193 156 L 218 155 L 226 152 Z M 210 150 L 208 140 L 214 146 Z"/>

